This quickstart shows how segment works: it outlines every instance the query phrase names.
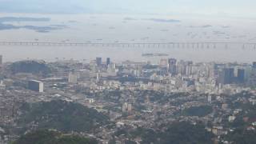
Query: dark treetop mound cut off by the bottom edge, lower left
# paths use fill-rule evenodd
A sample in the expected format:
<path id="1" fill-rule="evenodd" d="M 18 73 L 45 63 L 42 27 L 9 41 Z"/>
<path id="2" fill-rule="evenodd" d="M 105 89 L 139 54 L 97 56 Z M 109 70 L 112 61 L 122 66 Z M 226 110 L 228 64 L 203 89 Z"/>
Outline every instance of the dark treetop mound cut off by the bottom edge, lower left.
<path id="1" fill-rule="evenodd" d="M 38 130 L 22 135 L 11 144 L 97 144 L 91 138 L 83 138 L 78 135 L 62 134 L 52 130 Z"/>

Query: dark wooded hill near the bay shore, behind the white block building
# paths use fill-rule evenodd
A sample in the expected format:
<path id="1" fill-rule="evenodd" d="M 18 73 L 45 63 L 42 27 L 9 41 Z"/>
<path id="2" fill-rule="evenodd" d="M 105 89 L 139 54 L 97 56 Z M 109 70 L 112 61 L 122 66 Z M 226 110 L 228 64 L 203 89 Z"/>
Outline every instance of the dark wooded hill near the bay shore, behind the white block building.
<path id="1" fill-rule="evenodd" d="M 43 61 L 20 61 L 10 65 L 10 71 L 17 73 L 49 74 L 50 67 Z"/>

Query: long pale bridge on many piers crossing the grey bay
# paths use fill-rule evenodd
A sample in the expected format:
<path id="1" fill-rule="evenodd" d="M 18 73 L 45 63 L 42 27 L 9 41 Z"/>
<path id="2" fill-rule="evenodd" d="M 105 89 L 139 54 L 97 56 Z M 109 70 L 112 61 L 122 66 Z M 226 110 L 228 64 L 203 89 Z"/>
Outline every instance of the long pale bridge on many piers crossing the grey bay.
<path id="1" fill-rule="evenodd" d="M 85 46 L 85 47 L 127 47 L 127 48 L 232 48 L 256 50 L 256 42 L 0 42 L 0 46 Z"/>

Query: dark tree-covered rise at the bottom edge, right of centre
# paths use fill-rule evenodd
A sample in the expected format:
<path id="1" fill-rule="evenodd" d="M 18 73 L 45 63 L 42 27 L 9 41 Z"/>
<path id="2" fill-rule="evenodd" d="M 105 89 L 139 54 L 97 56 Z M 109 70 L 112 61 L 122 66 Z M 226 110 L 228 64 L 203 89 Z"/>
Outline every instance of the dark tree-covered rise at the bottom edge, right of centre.
<path id="1" fill-rule="evenodd" d="M 142 143 L 148 144 L 212 144 L 213 135 L 201 124 L 192 125 L 188 122 L 175 122 L 167 126 L 164 132 L 139 129 Z"/>

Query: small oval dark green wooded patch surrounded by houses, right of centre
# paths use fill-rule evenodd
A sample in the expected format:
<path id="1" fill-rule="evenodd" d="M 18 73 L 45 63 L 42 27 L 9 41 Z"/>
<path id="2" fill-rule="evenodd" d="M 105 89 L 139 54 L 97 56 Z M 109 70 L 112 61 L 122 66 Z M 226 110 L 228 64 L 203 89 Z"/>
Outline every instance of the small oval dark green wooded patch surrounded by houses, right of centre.
<path id="1" fill-rule="evenodd" d="M 204 117 L 213 112 L 211 106 L 193 106 L 182 111 L 182 114 L 186 116 L 198 116 Z"/>

